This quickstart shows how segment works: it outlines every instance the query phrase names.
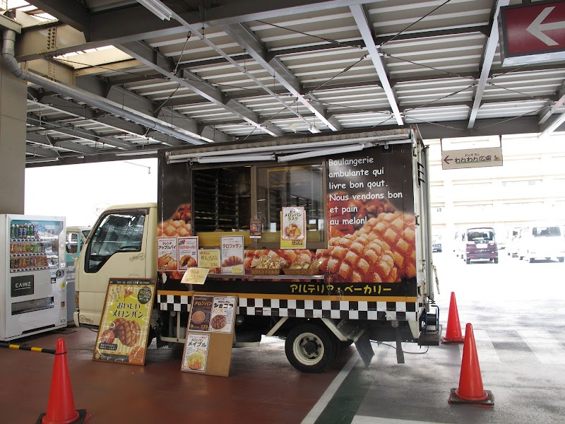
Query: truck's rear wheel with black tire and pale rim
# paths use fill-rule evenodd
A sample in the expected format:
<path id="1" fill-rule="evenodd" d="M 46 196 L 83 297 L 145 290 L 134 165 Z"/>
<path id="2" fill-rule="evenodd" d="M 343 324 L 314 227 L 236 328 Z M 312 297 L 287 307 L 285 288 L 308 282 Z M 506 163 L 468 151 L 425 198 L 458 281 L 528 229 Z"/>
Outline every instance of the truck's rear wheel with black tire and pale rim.
<path id="1" fill-rule="evenodd" d="M 285 353 L 290 365 L 300 372 L 323 372 L 337 356 L 338 338 L 316 324 L 300 324 L 290 330 Z"/>

